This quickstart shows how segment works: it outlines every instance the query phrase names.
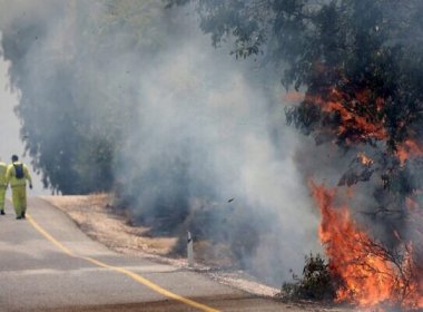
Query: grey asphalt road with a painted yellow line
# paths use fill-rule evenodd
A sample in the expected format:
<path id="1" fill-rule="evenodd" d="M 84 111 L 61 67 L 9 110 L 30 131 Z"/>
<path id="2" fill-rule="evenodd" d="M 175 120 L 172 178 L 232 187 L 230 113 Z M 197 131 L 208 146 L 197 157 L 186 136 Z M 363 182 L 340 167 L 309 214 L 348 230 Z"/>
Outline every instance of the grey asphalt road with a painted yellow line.
<path id="1" fill-rule="evenodd" d="M 207 276 L 115 253 L 66 214 L 29 198 L 0 216 L 0 311 L 304 311 Z"/>

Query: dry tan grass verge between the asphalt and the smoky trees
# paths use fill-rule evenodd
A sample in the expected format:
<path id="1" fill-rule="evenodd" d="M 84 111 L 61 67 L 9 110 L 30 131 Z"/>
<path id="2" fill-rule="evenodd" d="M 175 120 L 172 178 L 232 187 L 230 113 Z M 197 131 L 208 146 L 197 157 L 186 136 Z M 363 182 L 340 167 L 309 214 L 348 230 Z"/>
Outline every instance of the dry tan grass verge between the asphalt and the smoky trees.
<path id="1" fill-rule="evenodd" d="M 177 244 L 177 237 L 146 236 L 149 228 L 131 226 L 130 217 L 112 208 L 114 198 L 109 194 L 89 196 L 42 196 L 51 205 L 69 215 L 73 222 L 92 240 L 100 242 L 117 252 L 154 257 L 159 262 L 169 263 L 179 267 L 187 267 L 186 259 L 168 256 Z M 214 270 L 232 266 L 227 246 L 214 246 L 209 242 L 199 241 L 194 244 L 196 261 L 194 269 L 208 274 L 220 283 L 242 289 L 244 291 L 265 296 L 274 296 L 278 290 L 262 285 L 245 277 L 239 271 L 232 272 Z M 219 261 L 214 260 L 219 259 Z M 206 261 L 207 260 L 207 261 Z M 207 265 L 201 265 L 200 263 Z"/>

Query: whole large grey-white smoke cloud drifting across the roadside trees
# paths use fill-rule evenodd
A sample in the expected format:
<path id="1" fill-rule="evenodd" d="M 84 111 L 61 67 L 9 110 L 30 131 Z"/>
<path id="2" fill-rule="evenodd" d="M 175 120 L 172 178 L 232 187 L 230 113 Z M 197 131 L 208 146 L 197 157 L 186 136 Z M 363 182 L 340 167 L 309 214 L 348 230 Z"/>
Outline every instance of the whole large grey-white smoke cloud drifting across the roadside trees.
<path id="1" fill-rule="evenodd" d="M 119 16 L 112 1 L 42 3 L 8 3 L 0 26 L 27 147 L 41 170 L 60 164 L 45 181 L 63 193 L 111 181 L 121 205 L 156 234 L 184 242 L 191 231 L 227 244 L 277 286 L 289 270 L 301 273 L 304 255 L 318 251 L 318 221 L 277 74 L 214 49 L 190 8 L 147 1 L 146 17 Z M 98 169 L 99 149 L 87 152 L 98 140 L 110 168 L 81 184 L 81 173 Z"/>

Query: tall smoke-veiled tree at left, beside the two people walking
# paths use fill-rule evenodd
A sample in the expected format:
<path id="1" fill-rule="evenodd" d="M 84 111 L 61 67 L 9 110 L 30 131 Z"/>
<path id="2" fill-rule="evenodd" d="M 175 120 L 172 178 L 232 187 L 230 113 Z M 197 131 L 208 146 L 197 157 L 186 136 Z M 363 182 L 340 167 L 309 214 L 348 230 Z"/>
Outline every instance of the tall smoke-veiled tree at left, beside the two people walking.
<path id="1" fill-rule="evenodd" d="M 109 191 L 116 152 L 135 125 L 137 81 L 129 77 L 138 71 L 137 53 L 159 45 L 154 23 L 161 4 L 125 0 L 46 7 L 40 17 L 21 14 L 1 29 L 11 86 L 20 91 L 16 113 L 26 152 L 52 192 Z M 128 50 L 134 57 L 112 68 Z"/>

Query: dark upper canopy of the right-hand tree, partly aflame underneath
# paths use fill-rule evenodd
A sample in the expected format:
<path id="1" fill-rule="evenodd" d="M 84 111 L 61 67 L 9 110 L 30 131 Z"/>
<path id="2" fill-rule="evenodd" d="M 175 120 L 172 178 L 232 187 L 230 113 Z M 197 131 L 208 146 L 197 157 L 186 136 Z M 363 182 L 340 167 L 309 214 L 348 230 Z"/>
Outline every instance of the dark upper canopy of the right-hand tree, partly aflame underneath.
<path id="1" fill-rule="evenodd" d="M 318 143 L 348 148 L 382 140 L 392 155 L 406 138 L 421 136 L 420 1 L 197 3 L 215 46 L 233 42 L 237 57 L 264 53 L 265 61 L 283 65 L 286 88 L 306 88 L 304 101 L 287 108 L 287 120 Z M 340 108 L 325 109 L 322 101 Z M 362 120 L 374 127 L 363 128 Z"/>

